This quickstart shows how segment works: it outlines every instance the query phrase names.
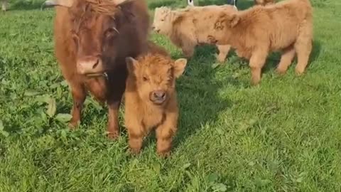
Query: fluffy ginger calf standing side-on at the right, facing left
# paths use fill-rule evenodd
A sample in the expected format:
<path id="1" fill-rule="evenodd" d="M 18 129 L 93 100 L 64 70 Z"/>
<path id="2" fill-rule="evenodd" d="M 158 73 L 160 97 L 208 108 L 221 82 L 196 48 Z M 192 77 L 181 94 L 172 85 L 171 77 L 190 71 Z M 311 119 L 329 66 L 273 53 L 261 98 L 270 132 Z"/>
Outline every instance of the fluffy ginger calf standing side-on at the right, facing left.
<path id="1" fill-rule="evenodd" d="M 296 74 L 304 73 L 313 42 L 313 11 L 309 0 L 285 0 L 247 10 L 223 11 L 215 23 L 215 38 L 249 59 L 256 85 L 271 51 L 282 50 L 278 73 L 286 73 L 297 53 Z"/>

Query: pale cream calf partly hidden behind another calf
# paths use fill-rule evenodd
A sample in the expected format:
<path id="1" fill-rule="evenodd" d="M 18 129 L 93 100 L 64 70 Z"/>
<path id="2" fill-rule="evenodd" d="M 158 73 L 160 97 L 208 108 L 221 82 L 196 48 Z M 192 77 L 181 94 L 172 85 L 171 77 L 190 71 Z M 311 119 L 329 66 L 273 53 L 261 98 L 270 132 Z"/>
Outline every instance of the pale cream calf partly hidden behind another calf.
<path id="1" fill-rule="evenodd" d="M 224 6 L 188 6 L 185 9 L 171 10 L 167 7 L 155 9 L 153 31 L 168 36 L 172 43 L 183 50 L 186 58 L 193 56 L 195 46 L 214 44 L 208 36 L 214 30 L 217 11 L 234 11 L 230 5 Z M 231 46 L 217 44 L 217 60 L 224 62 Z"/>

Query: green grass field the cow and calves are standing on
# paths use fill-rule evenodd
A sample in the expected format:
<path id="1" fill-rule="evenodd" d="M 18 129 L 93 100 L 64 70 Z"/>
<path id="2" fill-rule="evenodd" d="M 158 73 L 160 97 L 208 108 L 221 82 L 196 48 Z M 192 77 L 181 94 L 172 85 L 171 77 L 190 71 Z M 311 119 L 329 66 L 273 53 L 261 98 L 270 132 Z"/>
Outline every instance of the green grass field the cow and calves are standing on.
<path id="1" fill-rule="evenodd" d="M 179 132 L 168 159 L 155 137 L 139 156 L 105 137 L 107 110 L 90 97 L 84 120 L 67 128 L 72 99 L 53 55 L 54 9 L 13 2 L 0 13 L 0 191 L 340 191 L 341 3 L 313 0 L 314 48 L 302 77 L 274 73 L 272 54 L 258 87 L 230 53 L 197 48 L 178 80 Z M 223 4 L 200 1 L 200 4 Z M 185 0 L 148 0 L 184 6 Z M 239 0 L 239 9 L 253 3 Z M 163 36 L 153 41 L 182 57 Z M 121 124 L 123 122 L 121 121 Z"/>

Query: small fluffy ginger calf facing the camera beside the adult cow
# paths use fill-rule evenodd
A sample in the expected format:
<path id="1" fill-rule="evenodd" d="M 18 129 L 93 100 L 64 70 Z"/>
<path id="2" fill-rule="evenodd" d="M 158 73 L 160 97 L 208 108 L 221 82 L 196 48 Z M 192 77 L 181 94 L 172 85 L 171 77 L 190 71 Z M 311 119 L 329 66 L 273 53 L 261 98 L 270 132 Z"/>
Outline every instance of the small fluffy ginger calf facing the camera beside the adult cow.
<path id="1" fill-rule="evenodd" d="M 124 119 L 133 153 L 139 153 L 144 136 L 156 128 L 158 154 L 167 156 L 178 126 L 175 79 L 182 75 L 187 60 L 173 61 L 158 48 L 151 52 L 137 60 L 126 58 L 129 75 L 124 93 Z"/>

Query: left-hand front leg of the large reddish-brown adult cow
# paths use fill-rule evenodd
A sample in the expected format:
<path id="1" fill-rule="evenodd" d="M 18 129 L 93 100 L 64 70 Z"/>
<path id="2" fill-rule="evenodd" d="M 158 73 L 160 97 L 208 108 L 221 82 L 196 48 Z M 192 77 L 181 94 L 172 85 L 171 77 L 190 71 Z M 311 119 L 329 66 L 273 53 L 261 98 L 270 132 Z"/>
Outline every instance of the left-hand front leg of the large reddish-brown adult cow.
<path id="1" fill-rule="evenodd" d="M 70 84 L 73 106 L 71 110 L 72 119 L 70 121 L 69 127 L 75 128 L 81 121 L 82 108 L 87 97 L 87 92 L 82 84 Z"/>

